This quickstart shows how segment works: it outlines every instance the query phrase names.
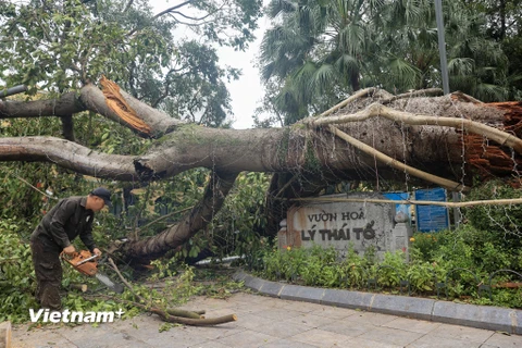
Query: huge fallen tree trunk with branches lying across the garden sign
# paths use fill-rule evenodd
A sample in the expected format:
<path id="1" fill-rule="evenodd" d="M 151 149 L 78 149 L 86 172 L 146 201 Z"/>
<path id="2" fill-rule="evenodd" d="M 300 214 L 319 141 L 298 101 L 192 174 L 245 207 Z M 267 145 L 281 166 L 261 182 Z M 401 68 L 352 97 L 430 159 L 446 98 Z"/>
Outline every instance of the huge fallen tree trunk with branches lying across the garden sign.
<path id="1" fill-rule="evenodd" d="M 52 137 L 0 138 L 0 161 L 48 161 L 119 181 L 153 181 L 192 167 L 211 169 L 212 181 L 201 202 L 176 226 L 128 244 L 126 250 L 133 258 L 157 258 L 204 228 L 241 171 L 276 173 L 270 188 L 272 198 L 310 196 L 341 179 L 406 179 L 406 170 L 362 152 L 335 133 L 349 134 L 395 164 L 407 164 L 457 185 L 470 185 L 474 174 L 509 176 L 521 164 L 520 102 L 484 104 L 458 94 L 383 99 L 378 94 L 362 92 L 335 113 L 290 127 L 234 130 L 179 122 L 120 91 L 109 80 L 102 85 L 103 91 L 88 85 L 77 97 L 67 94 L 55 101 L 0 101 L 0 119 L 64 116 L 91 110 L 129 127 L 137 136 L 151 138 L 153 146 L 147 153 L 104 154 Z M 333 132 L 332 125 L 338 132 Z M 276 227 L 284 207 L 271 200 L 269 208 Z"/>

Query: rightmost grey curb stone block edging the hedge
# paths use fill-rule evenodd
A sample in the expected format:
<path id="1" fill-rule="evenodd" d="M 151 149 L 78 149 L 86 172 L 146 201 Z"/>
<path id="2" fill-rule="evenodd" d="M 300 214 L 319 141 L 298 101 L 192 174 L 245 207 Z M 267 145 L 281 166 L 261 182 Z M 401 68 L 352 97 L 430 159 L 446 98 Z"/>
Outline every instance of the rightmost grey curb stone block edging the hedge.
<path id="1" fill-rule="evenodd" d="M 508 308 L 436 301 L 432 320 L 522 334 L 522 311 Z"/>

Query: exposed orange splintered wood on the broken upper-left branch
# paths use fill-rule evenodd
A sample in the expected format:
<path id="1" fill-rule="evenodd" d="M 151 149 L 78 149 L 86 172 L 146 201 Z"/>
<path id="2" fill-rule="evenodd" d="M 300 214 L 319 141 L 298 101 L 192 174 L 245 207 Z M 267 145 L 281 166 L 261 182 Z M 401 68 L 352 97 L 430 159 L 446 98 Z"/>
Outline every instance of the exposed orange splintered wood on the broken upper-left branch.
<path id="1" fill-rule="evenodd" d="M 134 111 L 125 98 L 123 98 L 122 94 L 120 92 L 120 86 L 112 80 L 107 79 L 105 76 L 101 77 L 100 84 L 103 96 L 107 100 L 107 105 L 134 129 L 150 135 L 150 126 L 136 114 L 136 111 Z"/>

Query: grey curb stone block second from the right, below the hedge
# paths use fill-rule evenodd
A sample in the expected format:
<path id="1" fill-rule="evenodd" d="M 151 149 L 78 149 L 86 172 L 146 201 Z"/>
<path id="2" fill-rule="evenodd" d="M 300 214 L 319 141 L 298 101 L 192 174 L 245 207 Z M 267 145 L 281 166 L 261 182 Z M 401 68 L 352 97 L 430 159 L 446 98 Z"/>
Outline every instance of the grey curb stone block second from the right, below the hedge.
<path id="1" fill-rule="evenodd" d="M 369 310 L 383 314 L 431 320 L 434 303 L 435 300 L 427 298 L 376 294 Z"/>

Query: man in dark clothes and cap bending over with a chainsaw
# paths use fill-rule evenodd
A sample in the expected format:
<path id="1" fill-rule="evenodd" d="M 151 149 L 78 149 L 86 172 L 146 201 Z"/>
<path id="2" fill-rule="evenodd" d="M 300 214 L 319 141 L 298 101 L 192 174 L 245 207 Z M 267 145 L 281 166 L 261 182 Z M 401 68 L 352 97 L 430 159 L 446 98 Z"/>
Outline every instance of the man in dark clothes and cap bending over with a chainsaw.
<path id="1" fill-rule="evenodd" d="M 87 197 L 64 198 L 44 216 L 30 235 L 37 281 L 36 299 L 42 308 L 57 311 L 61 309 L 60 253 L 76 251 L 71 244 L 74 238 L 79 236 L 90 252 L 101 254 L 92 239 L 92 220 L 95 212 L 105 204 L 111 206 L 111 192 L 103 187 L 98 187 Z"/>

